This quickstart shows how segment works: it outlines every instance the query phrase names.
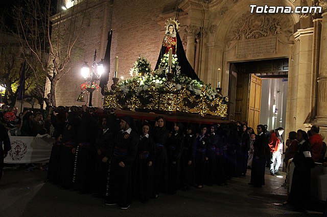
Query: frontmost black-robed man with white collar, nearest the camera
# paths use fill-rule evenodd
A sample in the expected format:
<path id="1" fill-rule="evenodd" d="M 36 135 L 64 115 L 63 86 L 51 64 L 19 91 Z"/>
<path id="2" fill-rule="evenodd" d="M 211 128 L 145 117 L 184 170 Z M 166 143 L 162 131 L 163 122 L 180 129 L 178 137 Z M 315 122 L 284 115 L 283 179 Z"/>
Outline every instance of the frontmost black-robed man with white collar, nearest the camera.
<path id="1" fill-rule="evenodd" d="M 120 128 L 121 131 L 115 134 L 113 140 L 109 189 L 105 204 L 119 204 L 121 209 L 128 209 L 132 204 L 132 166 L 137 154 L 139 137 L 135 132 L 133 119 L 129 116 L 121 118 Z"/>

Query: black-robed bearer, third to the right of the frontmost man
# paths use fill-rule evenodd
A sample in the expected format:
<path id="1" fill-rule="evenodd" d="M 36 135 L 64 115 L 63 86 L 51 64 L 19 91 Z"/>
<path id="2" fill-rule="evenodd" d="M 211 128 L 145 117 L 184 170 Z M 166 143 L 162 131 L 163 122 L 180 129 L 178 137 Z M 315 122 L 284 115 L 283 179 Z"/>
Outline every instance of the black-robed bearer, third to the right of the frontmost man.
<path id="1" fill-rule="evenodd" d="M 168 194 L 175 194 L 179 186 L 180 157 L 184 145 L 183 125 L 174 124 L 174 130 L 168 139 Z"/>

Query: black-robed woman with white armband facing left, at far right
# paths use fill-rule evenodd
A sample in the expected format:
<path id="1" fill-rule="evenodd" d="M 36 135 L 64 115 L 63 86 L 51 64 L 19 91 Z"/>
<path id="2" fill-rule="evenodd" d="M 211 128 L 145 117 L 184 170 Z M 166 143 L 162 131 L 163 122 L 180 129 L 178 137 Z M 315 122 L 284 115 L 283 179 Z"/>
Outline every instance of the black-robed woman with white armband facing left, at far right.
<path id="1" fill-rule="evenodd" d="M 310 206 L 311 168 L 315 164 L 307 133 L 300 129 L 297 130 L 296 140 L 299 144 L 292 160 L 295 167 L 288 203 L 293 205 L 296 211 L 306 212 L 306 208 Z"/>

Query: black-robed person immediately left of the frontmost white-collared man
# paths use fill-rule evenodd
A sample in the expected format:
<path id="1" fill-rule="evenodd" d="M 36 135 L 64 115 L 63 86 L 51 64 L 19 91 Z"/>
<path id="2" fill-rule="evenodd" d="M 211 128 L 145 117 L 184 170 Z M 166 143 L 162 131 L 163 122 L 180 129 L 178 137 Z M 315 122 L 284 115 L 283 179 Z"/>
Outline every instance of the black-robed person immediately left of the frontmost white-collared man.
<path id="1" fill-rule="evenodd" d="M 98 130 L 96 140 L 97 155 L 93 179 L 94 197 L 104 198 L 106 193 L 107 172 L 113 148 L 113 131 L 109 128 L 109 122 L 111 121 L 113 120 L 109 117 L 101 118 L 101 127 Z"/>

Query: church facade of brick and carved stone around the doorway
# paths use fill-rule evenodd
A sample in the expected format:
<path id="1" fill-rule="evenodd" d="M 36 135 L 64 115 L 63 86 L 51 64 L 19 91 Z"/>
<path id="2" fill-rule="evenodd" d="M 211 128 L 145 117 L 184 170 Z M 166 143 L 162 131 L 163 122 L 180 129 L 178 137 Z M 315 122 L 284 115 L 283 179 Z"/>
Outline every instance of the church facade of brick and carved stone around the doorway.
<path id="1" fill-rule="evenodd" d="M 287 60 L 287 70 L 279 71 L 276 68 L 271 71 L 272 74 L 287 75 L 289 88 L 286 130 L 306 129 L 312 124 L 318 124 L 321 132 L 326 133 L 325 1 L 84 0 L 78 2 L 85 4 L 87 11 L 85 24 L 74 47 L 74 52 L 80 54 L 71 60 L 69 72 L 57 83 L 57 105 L 83 104 L 76 102 L 80 94 L 80 84 L 83 83 L 81 65 L 84 61 L 91 64 L 95 49 L 98 52 L 97 61 L 104 57 L 110 28 L 113 34 L 108 87 L 112 84 L 115 57 L 119 57 L 118 77 L 129 77 L 129 70 L 139 56 L 147 58 L 154 68 L 165 34 L 165 22 L 167 19 L 177 17 L 186 56 L 204 83 L 211 83 L 217 87 L 217 69 L 220 68 L 223 73 L 222 95 L 229 96 L 236 88 L 236 83 L 232 83 L 231 80 L 238 76 L 238 73 L 234 73 L 235 75 L 232 73 L 232 63 Z M 60 4 L 72 3 L 74 1 L 63 0 Z M 250 5 L 294 8 L 312 6 L 313 3 L 323 6 L 322 13 L 250 13 Z M 234 113 L 237 109 L 237 105 L 233 105 L 235 97 L 229 97 L 231 99 L 229 119 L 235 119 Z M 93 105 L 102 107 L 102 103 L 100 91 L 95 92 Z M 247 110 L 247 107 L 242 109 Z"/>

